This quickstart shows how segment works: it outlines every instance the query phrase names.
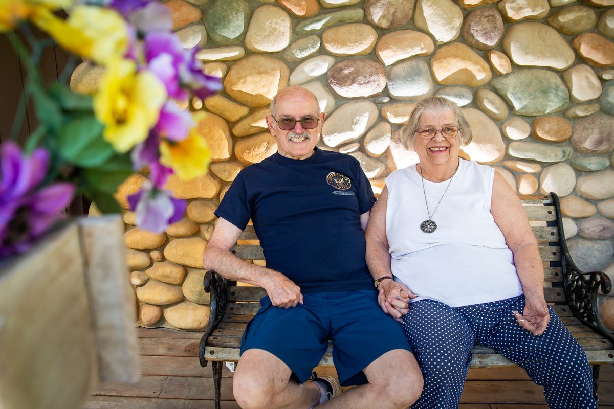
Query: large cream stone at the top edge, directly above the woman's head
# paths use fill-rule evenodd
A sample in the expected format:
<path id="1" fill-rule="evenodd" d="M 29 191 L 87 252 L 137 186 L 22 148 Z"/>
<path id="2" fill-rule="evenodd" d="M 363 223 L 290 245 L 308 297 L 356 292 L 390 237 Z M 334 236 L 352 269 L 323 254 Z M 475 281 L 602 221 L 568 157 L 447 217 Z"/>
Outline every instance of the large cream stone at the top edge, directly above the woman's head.
<path id="1" fill-rule="evenodd" d="M 444 44 L 461 34 L 462 10 L 452 0 L 418 0 L 414 24 Z"/>

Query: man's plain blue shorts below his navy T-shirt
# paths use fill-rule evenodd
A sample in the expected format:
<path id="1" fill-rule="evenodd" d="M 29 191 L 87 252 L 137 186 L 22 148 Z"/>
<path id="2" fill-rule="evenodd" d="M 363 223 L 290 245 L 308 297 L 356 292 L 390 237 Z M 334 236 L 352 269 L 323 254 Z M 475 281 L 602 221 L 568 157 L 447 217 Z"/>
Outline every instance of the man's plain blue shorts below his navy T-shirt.
<path id="1" fill-rule="evenodd" d="M 370 289 L 309 292 L 304 304 L 273 307 L 268 296 L 247 324 L 241 354 L 252 348 L 278 357 L 301 383 L 311 376 L 333 341 L 333 362 L 341 385 L 367 383 L 362 372 L 371 362 L 392 350 L 411 351 L 401 324 L 378 305 L 378 292 Z"/>

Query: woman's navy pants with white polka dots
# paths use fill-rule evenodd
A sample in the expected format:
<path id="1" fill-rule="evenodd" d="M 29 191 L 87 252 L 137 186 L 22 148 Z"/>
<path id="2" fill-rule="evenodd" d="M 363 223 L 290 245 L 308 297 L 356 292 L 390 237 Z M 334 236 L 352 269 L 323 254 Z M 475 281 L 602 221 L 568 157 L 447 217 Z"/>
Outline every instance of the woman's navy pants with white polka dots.
<path id="1" fill-rule="evenodd" d="M 524 296 L 456 308 L 435 300 L 411 303 L 403 329 L 424 376 L 424 390 L 412 408 L 458 408 L 474 343 L 523 367 L 532 381 L 544 386 L 550 408 L 597 408 L 586 355 L 548 308 L 550 323 L 535 336 L 512 314 L 524 310 Z"/>

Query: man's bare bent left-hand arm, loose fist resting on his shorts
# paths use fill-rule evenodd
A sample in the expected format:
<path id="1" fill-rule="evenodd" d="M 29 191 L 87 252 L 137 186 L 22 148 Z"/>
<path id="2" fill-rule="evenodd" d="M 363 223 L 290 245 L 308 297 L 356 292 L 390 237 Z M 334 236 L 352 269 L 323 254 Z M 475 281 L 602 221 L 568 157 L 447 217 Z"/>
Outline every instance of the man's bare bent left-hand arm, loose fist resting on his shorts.
<path id="1" fill-rule="evenodd" d="M 276 307 L 292 308 L 303 303 L 301 289 L 282 273 L 246 262 L 231 253 L 241 229 L 219 218 L 203 253 L 203 267 L 229 280 L 262 287 Z"/>

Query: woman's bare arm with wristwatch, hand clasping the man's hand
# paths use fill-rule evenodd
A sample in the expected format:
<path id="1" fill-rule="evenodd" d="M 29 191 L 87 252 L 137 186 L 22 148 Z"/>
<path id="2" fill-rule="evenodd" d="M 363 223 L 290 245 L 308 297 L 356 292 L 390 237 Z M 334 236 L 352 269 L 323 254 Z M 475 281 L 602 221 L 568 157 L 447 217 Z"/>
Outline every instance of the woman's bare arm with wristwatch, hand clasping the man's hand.
<path id="1" fill-rule="evenodd" d="M 371 276 L 376 280 L 381 277 L 393 277 L 388 253 L 388 238 L 386 236 L 386 207 L 388 189 L 384 187 L 378 201 L 371 208 L 371 215 L 365 231 L 367 240 L 367 266 Z M 394 280 L 384 280 L 379 284 L 378 302 L 382 310 L 397 321 L 402 321 L 403 315 L 409 311 L 410 298 L 416 296 L 402 283 Z"/>

